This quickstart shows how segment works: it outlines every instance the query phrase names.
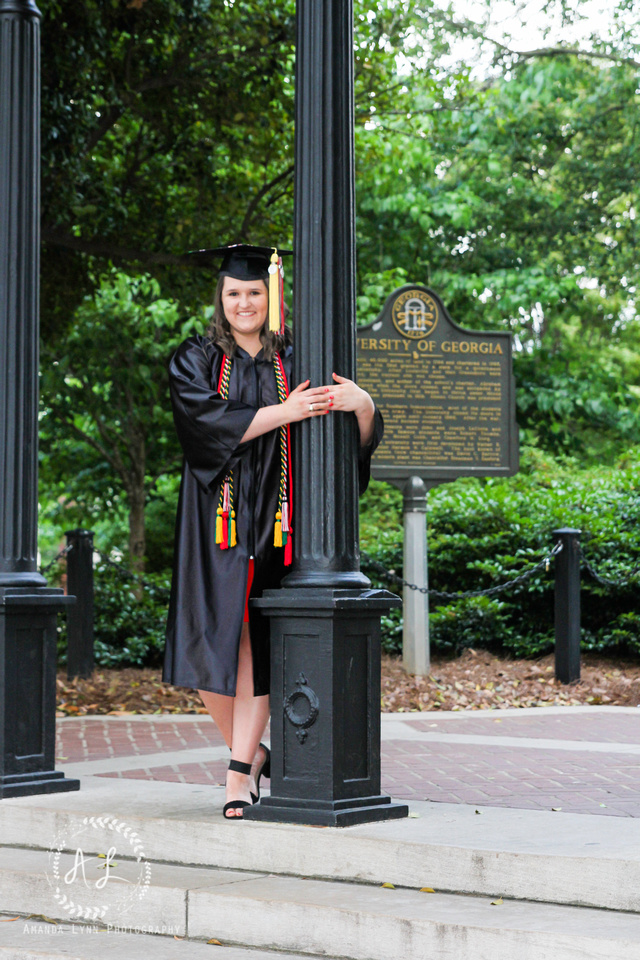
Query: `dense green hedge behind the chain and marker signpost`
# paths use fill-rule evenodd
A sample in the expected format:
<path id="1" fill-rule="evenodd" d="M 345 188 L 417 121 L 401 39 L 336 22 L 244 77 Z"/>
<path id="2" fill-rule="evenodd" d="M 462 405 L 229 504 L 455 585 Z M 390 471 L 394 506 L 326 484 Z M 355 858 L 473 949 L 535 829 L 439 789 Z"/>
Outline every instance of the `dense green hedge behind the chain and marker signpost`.
<path id="1" fill-rule="evenodd" d="M 466 591 L 494 586 L 535 565 L 554 545 L 552 531 L 583 531 L 586 557 L 614 588 L 582 575 L 582 646 L 640 653 L 640 448 L 614 467 L 580 468 L 535 448 L 507 479 L 465 478 L 428 497 L 429 586 Z M 372 481 L 362 503 L 362 550 L 402 573 L 402 495 Z M 387 586 L 364 561 L 372 581 Z M 631 583 L 628 582 L 631 577 Z M 626 583 L 624 581 L 627 581 Z M 491 647 L 516 656 L 553 648 L 553 564 L 499 597 L 430 604 L 432 648 Z M 383 645 L 402 649 L 402 612 L 383 621 Z"/>

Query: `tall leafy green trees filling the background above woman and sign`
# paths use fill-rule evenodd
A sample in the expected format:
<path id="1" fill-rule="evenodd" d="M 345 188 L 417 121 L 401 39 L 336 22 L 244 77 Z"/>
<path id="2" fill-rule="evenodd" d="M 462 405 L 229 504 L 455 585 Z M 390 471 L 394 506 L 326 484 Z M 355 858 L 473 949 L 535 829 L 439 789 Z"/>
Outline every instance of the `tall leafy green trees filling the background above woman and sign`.
<path id="1" fill-rule="evenodd" d="M 527 444 L 613 462 L 640 441 L 638 14 L 616 0 L 608 33 L 525 49 L 486 11 L 356 0 L 360 320 L 428 283 L 463 326 L 512 332 Z M 170 528 L 163 364 L 212 287 L 181 256 L 290 242 L 294 58 L 294 0 L 46 5 L 42 481 L 66 510 L 121 518 L 144 490 Z"/>

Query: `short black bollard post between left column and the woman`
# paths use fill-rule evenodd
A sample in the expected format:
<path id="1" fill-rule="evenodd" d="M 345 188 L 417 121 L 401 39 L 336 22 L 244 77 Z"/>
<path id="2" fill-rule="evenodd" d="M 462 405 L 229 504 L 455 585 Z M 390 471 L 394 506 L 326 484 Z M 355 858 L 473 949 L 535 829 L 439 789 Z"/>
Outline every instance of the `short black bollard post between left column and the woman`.
<path id="1" fill-rule="evenodd" d="M 67 590 L 76 598 L 67 613 L 67 677 L 93 672 L 93 531 L 65 531 Z"/>

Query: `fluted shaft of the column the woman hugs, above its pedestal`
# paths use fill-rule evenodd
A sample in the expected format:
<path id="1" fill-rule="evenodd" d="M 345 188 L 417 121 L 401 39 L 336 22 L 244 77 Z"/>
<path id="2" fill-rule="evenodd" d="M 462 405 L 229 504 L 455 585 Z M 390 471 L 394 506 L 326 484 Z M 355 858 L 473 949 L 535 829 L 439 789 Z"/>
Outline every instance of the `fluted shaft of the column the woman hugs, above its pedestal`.
<path id="1" fill-rule="evenodd" d="M 294 380 L 355 377 L 353 0 L 299 0 Z M 296 425 L 294 568 L 287 586 L 369 586 L 359 572 L 357 423 Z"/>

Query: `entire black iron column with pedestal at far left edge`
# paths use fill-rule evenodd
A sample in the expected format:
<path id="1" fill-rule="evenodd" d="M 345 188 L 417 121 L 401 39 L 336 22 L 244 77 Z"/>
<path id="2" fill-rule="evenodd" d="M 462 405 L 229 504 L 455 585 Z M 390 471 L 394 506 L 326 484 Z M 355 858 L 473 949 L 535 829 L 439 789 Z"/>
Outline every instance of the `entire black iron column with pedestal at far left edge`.
<path id="1" fill-rule="evenodd" d="M 37 572 L 40 13 L 0 0 L 0 797 L 77 790 L 54 770 L 56 614 Z"/>

